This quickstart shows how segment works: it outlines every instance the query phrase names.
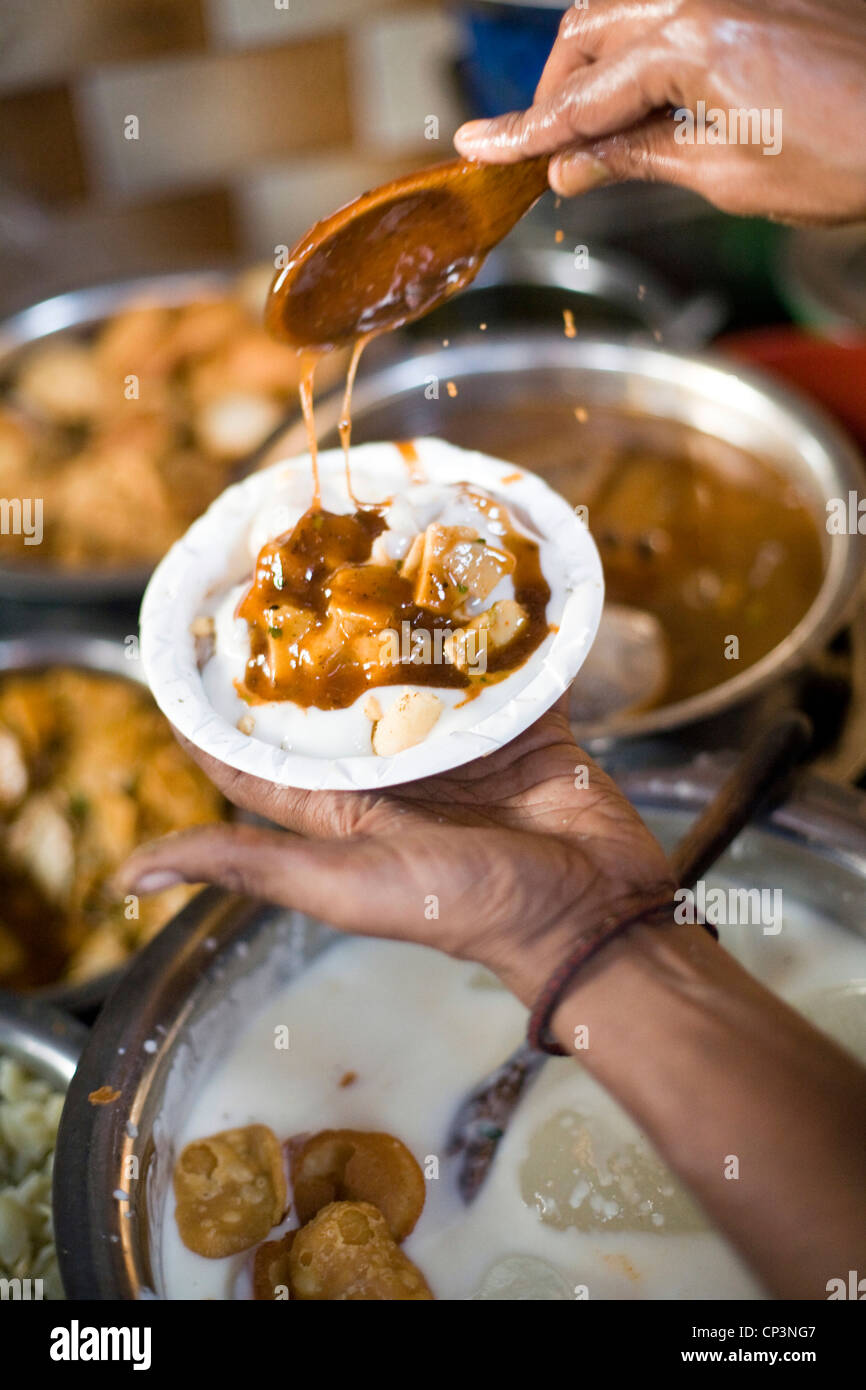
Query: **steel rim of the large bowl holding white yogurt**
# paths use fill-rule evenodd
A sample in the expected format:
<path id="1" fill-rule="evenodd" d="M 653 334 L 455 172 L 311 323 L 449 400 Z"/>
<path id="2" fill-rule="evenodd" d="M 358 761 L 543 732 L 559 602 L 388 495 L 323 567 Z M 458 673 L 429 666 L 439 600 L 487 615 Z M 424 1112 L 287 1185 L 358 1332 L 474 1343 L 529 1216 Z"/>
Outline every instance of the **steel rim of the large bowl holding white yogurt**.
<path id="1" fill-rule="evenodd" d="M 623 783 L 671 845 L 717 790 L 726 759 Z M 798 796 L 740 837 L 720 872 L 783 887 L 866 934 L 866 796 L 805 778 Z M 54 1220 L 70 1298 L 160 1293 L 158 1223 L 174 1134 L 243 1019 L 338 934 L 297 913 L 206 890 L 136 958 L 106 1004 L 70 1087 L 54 1169 Z M 120 1090 L 88 1104 L 100 1086 Z M 138 1159 L 139 1177 L 129 1180 Z M 128 1200 L 118 1200 L 118 1193 Z"/>

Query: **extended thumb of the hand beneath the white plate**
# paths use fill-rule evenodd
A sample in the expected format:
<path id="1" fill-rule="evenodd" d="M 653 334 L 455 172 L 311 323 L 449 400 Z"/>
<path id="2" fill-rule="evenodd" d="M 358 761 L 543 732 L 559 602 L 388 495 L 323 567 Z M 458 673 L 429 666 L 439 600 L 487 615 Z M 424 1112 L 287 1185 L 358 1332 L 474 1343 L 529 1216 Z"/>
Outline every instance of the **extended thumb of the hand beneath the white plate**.
<path id="1" fill-rule="evenodd" d="M 115 885 L 146 895 L 178 883 L 210 883 L 335 927 L 398 935 L 407 934 L 411 913 L 395 876 L 392 852 L 373 837 L 310 841 L 256 826 L 202 826 L 142 845 Z"/>

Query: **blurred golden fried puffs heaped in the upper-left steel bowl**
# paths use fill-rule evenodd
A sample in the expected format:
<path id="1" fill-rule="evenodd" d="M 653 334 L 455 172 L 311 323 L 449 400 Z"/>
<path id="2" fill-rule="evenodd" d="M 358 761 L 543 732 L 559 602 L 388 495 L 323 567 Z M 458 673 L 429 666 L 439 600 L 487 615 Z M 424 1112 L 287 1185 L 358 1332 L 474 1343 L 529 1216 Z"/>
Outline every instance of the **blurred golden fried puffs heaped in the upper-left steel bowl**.
<path id="1" fill-rule="evenodd" d="M 145 295 L 0 367 L 0 493 L 43 505 L 38 550 L 4 534 L 3 562 L 125 567 L 168 549 L 296 402 L 296 353 L 261 325 L 271 274 L 186 303 Z"/>

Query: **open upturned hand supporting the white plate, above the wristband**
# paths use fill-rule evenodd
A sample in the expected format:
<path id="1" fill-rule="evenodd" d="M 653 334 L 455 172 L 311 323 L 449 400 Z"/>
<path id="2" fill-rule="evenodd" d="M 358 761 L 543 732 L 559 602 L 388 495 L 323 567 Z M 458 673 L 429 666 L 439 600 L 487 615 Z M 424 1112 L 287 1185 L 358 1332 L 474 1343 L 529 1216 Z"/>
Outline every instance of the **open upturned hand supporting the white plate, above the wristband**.
<path id="1" fill-rule="evenodd" d="M 489 758 L 382 794 L 275 787 L 185 746 L 229 801 L 295 834 L 168 835 L 128 860 L 126 892 L 221 884 L 478 960 L 525 1004 L 581 930 L 673 894 L 660 845 L 557 712 Z"/>

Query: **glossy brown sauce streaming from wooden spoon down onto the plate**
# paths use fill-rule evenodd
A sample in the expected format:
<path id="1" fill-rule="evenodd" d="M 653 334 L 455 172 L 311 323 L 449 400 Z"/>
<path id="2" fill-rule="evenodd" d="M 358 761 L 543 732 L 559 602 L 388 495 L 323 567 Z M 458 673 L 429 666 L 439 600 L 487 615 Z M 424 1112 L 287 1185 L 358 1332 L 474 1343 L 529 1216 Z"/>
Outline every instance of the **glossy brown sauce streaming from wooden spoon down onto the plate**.
<path id="1" fill-rule="evenodd" d="M 356 200 L 317 224 L 277 275 L 265 325 L 300 357 L 300 404 L 310 443 L 313 500 L 293 531 L 265 545 L 250 589 L 238 605 L 249 623 L 250 659 L 236 688 L 252 705 L 292 701 L 345 709 L 375 685 L 466 688 L 473 694 L 510 674 L 548 634 L 550 591 L 534 541 L 507 528 L 514 598 L 525 621 L 485 653 L 484 674 L 441 659 L 431 641 L 461 624 L 455 609 L 416 602 L 416 585 L 395 563 L 375 563 L 382 507 L 361 506 L 352 488 L 352 389 L 371 338 L 435 309 L 467 285 L 487 253 L 546 186 L 546 161 L 481 167 L 456 160 Z M 352 346 L 339 435 L 353 516 L 322 510 L 314 423 L 316 367 Z M 417 453 L 402 446 L 410 477 Z M 410 652 L 384 662 L 382 631 L 409 634 Z M 416 646 L 414 635 L 431 642 Z M 428 659 L 430 656 L 430 659 Z"/>

